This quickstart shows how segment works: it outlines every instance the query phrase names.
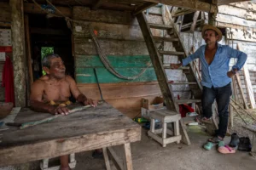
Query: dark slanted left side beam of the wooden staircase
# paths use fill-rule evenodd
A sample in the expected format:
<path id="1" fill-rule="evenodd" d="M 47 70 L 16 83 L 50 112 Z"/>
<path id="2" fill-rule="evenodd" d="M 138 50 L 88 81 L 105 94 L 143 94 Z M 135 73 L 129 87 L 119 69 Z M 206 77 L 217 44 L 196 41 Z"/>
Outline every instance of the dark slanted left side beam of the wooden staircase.
<path id="1" fill-rule="evenodd" d="M 154 71 L 156 73 L 158 82 L 160 82 L 160 89 L 163 94 L 164 99 L 166 100 L 166 106 L 171 111 L 177 111 L 175 109 L 175 105 L 173 104 L 173 94 L 171 93 L 171 90 L 169 88 L 169 85 L 167 83 L 167 77 L 166 72 L 164 71 L 164 68 L 161 64 L 160 55 L 158 54 L 157 48 L 155 47 L 153 36 L 150 32 L 150 28 L 148 26 L 148 23 L 145 19 L 145 16 L 143 13 L 137 14 L 137 20 L 139 22 L 139 25 L 143 32 L 143 37 L 145 39 L 145 42 L 148 47 L 148 53 L 152 60 Z"/>

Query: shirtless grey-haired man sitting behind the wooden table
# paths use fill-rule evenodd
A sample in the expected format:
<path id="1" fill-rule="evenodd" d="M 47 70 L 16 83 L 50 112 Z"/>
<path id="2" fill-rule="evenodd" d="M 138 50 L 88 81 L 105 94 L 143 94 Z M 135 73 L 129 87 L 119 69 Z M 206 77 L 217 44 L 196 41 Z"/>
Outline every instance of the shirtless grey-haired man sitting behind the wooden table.
<path id="1" fill-rule="evenodd" d="M 40 77 L 32 83 L 31 108 L 33 111 L 50 113 L 52 115 L 67 115 L 69 110 L 65 106 L 49 105 L 49 101 L 56 103 L 66 102 L 71 94 L 84 105 L 96 106 L 97 101 L 87 99 L 79 91 L 72 77 L 65 75 L 65 65 L 58 54 L 49 54 L 42 59 L 43 69 L 46 76 Z M 61 156 L 61 170 L 69 170 L 68 156 Z"/>

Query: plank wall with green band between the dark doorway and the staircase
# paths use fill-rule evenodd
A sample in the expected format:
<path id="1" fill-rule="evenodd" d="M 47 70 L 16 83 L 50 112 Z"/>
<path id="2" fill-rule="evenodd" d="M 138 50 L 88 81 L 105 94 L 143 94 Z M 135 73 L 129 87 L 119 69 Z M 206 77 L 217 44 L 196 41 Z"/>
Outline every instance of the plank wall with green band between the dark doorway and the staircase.
<path id="1" fill-rule="evenodd" d="M 73 18 L 91 22 L 93 30 L 97 31 L 102 51 L 121 75 L 135 76 L 151 64 L 140 27 L 136 18 L 130 13 L 74 7 Z M 148 20 L 158 22 L 161 21 L 161 17 L 148 15 Z M 161 31 L 154 30 L 154 35 L 160 33 Z M 154 99 L 155 96 L 161 95 L 152 66 L 135 80 L 124 80 L 113 76 L 102 65 L 86 23 L 74 24 L 73 43 L 76 81 L 79 89 L 87 97 L 100 99 L 94 68 L 103 98 L 128 116 L 133 117 L 139 113 L 142 98 Z"/>

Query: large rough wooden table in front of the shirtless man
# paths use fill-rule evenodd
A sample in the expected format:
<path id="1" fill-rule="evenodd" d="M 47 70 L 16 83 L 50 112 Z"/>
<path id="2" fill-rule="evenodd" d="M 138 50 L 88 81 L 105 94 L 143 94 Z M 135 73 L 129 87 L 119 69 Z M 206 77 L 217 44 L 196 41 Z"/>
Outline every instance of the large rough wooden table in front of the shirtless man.
<path id="1" fill-rule="evenodd" d="M 15 122 L 32 122 L 49 116 L 24 108 Z M 141 139 L 141 127 L 107 103 L 22 130 L 9 127 L 2 133 L 0 167 L 102 148 L 107 169 L 110 169 L 110 154 L 120 169 L 131 170 L 130 143 Z M 110 147 L 119 144 L 125 149 L 125 162 L 120 162 Z"/>

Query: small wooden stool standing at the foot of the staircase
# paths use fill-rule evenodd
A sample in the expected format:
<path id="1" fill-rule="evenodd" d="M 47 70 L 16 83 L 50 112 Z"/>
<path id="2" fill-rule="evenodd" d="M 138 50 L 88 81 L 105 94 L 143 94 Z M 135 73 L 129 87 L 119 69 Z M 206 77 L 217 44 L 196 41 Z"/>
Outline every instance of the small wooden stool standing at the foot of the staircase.
<path id="1" fill-rule="evenodd" d="M 163 110 L 155 110 L 150 113 L 151 124 L 150 130 L 148 131 L 148 136 L 158 141 L 163 147 L 166 147 L 166 144 L 170 144 L 172 142 L 180 143 L 182 139 L 179 133 L 179 120 L 181 119 L 180 114 L 175 111 L 169 111 L 166 109 Z M 162 128 L 154 129 L 155 120 L 159 120 L 162 122 Z M 173 122 L 174 123 L 174 133 L 172 130 L 167 128 L 167 123 Z M 162 137 L 158 134 L 162 133 Z M 171 135 L 172 137 L 166 138 L 166 134 Z M 174 134 L 174 135 L 173 135 Z"/>

